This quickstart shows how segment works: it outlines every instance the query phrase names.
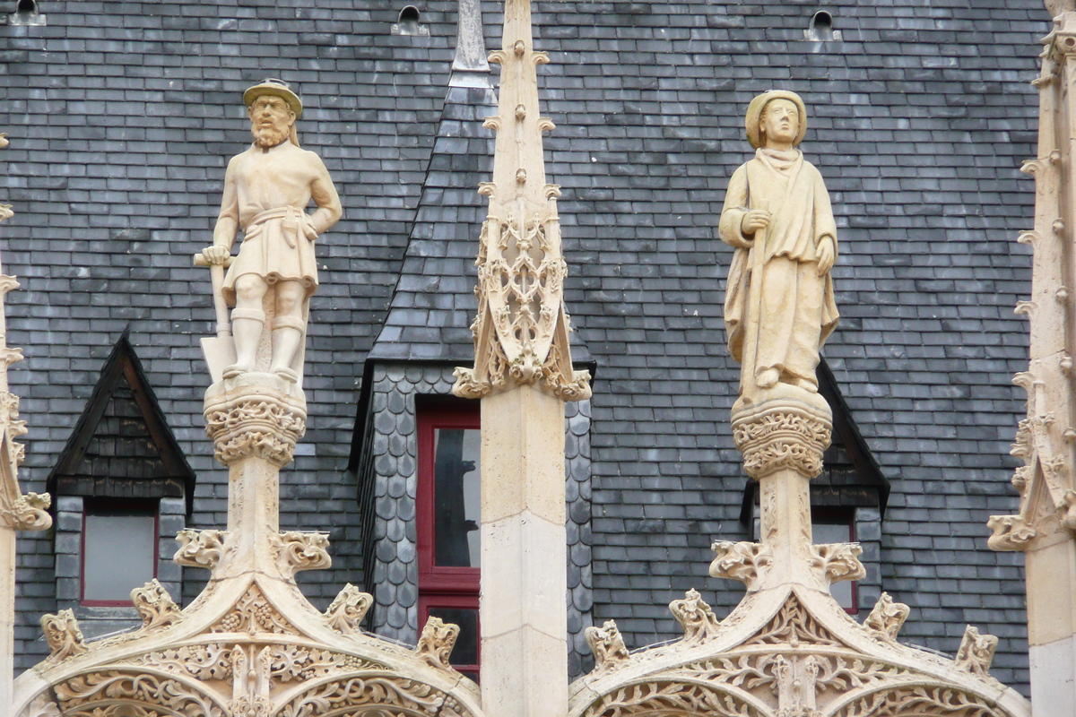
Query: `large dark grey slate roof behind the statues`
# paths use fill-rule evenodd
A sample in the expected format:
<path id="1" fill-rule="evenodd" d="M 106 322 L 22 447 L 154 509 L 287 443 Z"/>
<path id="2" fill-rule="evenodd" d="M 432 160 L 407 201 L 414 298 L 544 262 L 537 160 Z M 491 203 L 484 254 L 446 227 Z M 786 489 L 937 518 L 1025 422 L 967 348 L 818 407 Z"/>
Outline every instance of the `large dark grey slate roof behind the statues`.
<path id="1" fill-rule="evenodd" d="M 400 279 L 408 262 L 421 264 L 409 276 L 427 270 L 422 242 L 467 272 L 451 301 L 437 299 L 436 328 L 461 352 L 439 358 L 469 358 L 475 249 L 451 242 L 477 240 L 478 223 L 465 228 L 484 211 L 471 195 L 484 164 L 464 161 L 448 133 L 442 156 L 455 159 L 429 162 L 447 132 L 455 3 L 417 3 L 428 37 L 390 34 L 402 3 L 372 0 L 40 4 L 46 26 L 0 28 L 0 129 L 13 140 L 0 154 L 0 193 L 17 212 L 0 233 L 23 282 L 9 295 L 9 341 L 27 354 L 11 373 L 31 431 L 24 489 L 43 487 L 130 322 L 198 473 L 192 524 L 223 525 L 226 474 L 200 417 L 197 338 L 210 334 L 212 309 L 190 255 L 209 240 L 227 157 L 247 142 L 238 94 L 282 76 L 306 100 L 301 140 L 325 159 L 345 213 L 318 242 L 310 428 L 282 476 L 283 526 L 331 516 L 335 568 L 303 576 L 324 601 L 362 579 L 356 485 L 343 470 L 357 383 L 397 284 L 394 311 L 414 309 L 406 290 L 429 299 Z M 493 47 L 498 5 L 483 4 Z M 711 539 L 742 537 L 727 425 L 737 368 L 721 324 L 732 253 L 713 225 L 749 156 L 744 109 L 781 86 L 810 107 L 804 150 L 838 217 L 844 320 L 825 356 L 891 483 L 883 586 L 912 606 L 912 642 L 953 653 L 965 622 L 1001 635 L 995 674 L 1019 686 L 1021 558 L 988 551 L 985 522 L 1016 505 L 1007 450 L 1023 397 L 1008 378 L 1025 367 L 1028 340 L 1011 307 L 1029 290 L 1030 261 L 1013 240 L 1031 225 L 1032 185 L 1018 168 L 1035 152 L 1027 83 L 1047 13 L 1039 0 L 840 1 L 825 9 L 843 41 L 808 42 L 817 9 L 535 3 L 537 44 L 552 59 L 540 82 L 557 124 L 546 156 L 564 189 L 567 305 L 599 367 L 595 619 L 617 618 L 635 647 L 675 633 L 664 605 L 690 587 L 711 591 L 719 614 L 738 599 L 737 586 L 706 577 Z M 468 150 L 487 146 L 484 134 L 466 137 Z M 390 329 L 402 336 L 412 319 Z M 386 359 L 435 341 L 404 350 L 387 336 L 378 346 Z M 19 550 L 26 666 L 42 651 L 37 616 L 55 605 L 54 558 L 46 535 L 23 536 Z M 189 599 L 197 574 L 187 579 Z"/>

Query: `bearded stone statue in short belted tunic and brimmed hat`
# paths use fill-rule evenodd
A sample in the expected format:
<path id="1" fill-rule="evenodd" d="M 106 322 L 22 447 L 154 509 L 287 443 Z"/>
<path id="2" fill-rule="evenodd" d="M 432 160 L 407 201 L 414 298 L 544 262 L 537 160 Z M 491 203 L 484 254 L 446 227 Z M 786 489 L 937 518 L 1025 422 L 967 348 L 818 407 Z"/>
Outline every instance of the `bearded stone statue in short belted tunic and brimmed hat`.
<path id="1" fill-rule="evenodd" d="M 256 370 L 261 333 L 268 328 L 268 370 L 295 383 L 302 370 L 310 297 L 317 289 L 314 240 L 340 218 L 340 199 L 321 158 L 299 148 L 295 120 L 302 102 L 287 84 L 266 80 L 243 92 L 243 102 L 254 143 L 228 162 L 213 246 L 201 253 L 206 262 L 225 264 L 236 230 L 242 229 L 239 256 L 221 287 L 235 306 L 236 348 L 236 362 L 223 376 Z M 308 214 L 311 199 L 317 210 Z"/>

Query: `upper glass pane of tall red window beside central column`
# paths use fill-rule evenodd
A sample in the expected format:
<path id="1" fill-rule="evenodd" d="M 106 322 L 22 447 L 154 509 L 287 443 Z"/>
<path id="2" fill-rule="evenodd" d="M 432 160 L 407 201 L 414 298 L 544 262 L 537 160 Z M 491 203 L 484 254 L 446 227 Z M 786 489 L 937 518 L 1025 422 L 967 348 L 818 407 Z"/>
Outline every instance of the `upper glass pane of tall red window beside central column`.
<path id="1" fill-rule="evenodd" d="M 479 565 L 481 431 L 434 431 L 434 564 Z"/>

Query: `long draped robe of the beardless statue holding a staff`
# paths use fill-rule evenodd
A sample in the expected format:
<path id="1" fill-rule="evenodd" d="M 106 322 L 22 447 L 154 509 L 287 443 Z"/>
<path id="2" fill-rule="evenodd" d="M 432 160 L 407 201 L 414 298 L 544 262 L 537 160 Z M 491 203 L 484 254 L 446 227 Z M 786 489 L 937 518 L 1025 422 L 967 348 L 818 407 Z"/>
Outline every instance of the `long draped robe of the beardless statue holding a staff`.
<path id="1" fill-rule="evenodd" d="M 733 174 L 725 193 L 718 233 L 736 248 L 725 293 L 728 349 L 744 362 L 744 344 L 750 316 L 753 236 L 745 236 L 744 215 L 749 210 L 770 212 L 762 247 L 762 301 L 754 367 L 776 368 L 784 383 L 818 379 L 818 352 L 837 325 L 830 273 L 818 275 L 818 245 L 823 238 L 837 248 L 837 226 L 822 175 L 798 149 L 759 149 L 755 158 Z"/>

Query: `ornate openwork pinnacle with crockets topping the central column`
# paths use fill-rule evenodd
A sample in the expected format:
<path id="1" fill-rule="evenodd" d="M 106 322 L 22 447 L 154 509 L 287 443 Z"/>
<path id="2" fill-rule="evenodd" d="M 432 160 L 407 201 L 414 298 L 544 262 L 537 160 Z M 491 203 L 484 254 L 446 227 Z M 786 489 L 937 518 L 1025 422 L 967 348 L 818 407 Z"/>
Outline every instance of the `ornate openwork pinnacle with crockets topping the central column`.
<path id="1" fill-rule="evenodd" d="M 538 385 L 566 401 L 590 398 L 590 373 L 575 371 L 564 307 L 567 264 L 561 253 L 560 187 L 546 184 L 541 133 L 553 123 L 538 110 L 536 68 L 549 61 L 535 52 L 528 0 L 507 0 L 493 182 L 479 193 L 490 212 L 479 238 L 475 367 L 456 369 L 453 392 L 481 398 L 512 386 Z"/>

